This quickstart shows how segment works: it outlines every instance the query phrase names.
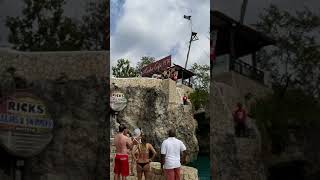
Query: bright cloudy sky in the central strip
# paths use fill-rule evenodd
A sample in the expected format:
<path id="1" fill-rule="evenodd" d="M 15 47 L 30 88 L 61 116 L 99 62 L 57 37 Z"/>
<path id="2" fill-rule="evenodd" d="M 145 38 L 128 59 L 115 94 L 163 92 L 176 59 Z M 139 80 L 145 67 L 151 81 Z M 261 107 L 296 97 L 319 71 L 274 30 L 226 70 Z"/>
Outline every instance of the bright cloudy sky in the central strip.
<path id="1" fill-rule="evenodd" d="M 188 68 L 209 64 L 210 0 L 111 0 L 111 66 L 129 59 L 132 66 L 142 56 L 159 60 L 168 55 L 184 66 L 191 23 L 199 40 L 192 42 Z"/>

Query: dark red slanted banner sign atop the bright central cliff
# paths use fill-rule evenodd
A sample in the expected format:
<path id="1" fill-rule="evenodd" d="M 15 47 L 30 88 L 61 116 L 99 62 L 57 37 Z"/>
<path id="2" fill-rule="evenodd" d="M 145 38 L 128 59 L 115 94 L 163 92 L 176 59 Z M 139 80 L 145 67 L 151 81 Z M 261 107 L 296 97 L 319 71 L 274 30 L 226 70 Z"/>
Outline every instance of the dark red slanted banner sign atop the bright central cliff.
<path id="1" fill-rule="evenodd" d="M 142 76 L 151 77 L 153 74 L 161 74 L 170 66 L 171 66 L 171 55 L 143 67 Z"/>

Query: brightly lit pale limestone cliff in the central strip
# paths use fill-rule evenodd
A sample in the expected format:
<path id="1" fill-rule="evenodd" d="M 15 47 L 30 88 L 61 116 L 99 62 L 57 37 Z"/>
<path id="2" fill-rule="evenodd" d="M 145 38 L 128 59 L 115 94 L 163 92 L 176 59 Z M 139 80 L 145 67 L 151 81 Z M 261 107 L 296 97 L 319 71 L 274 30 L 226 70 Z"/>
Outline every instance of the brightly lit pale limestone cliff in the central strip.
<path id="1" fill-rule="evenodd" d="M 172 80 L 151 78 L 111 79 L 111 83 L 115 83 L 128 99 L 127 107 L 119 112 L 117 122 L 128 124 L 131 131 L 141 128 L 147 141 L 155 147 L 158 158 L 161 143 L 168 137 L 170 128 L 176 128 L 177 138 L 186 145 L 189 158 L 197 155 L 197 122 L 191 105 L 182 105 L 185 90 Z M 117 131 L 116 126 L 113 128 Z"/>

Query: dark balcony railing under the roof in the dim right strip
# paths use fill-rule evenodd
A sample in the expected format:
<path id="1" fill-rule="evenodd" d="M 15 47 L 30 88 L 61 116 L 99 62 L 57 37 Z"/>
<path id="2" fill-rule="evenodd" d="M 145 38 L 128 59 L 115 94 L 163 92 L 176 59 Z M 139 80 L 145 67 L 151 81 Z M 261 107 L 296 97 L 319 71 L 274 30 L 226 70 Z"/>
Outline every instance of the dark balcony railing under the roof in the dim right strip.
<path id="1" fill-rule="evenodd" d="M 230 70 L 264 84 L 264 72 L 240 59 L 230 62 Z"/>

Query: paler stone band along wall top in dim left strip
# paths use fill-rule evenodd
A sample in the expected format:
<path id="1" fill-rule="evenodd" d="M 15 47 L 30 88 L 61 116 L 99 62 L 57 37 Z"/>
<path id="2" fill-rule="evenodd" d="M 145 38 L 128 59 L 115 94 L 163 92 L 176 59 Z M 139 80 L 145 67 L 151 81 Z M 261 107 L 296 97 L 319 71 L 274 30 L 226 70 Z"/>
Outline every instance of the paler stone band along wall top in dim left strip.
<path id="1" fill-rule="evenodd" d="M 109 52 L 21 52 L 0 48 L 0 72 L 9 67 L 27 80 L 57 79 L 66 74 L 68 79 L 88 76 L 108 76 Z"/>

